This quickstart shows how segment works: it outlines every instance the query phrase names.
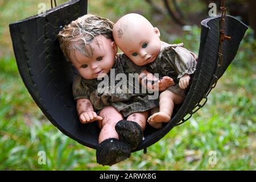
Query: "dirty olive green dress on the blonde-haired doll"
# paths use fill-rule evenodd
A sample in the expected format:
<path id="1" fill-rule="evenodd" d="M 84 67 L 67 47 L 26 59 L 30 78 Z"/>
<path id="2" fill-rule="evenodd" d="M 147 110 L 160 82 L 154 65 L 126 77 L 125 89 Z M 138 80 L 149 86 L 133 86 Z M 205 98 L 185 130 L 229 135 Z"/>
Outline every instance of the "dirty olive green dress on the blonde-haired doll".
<path id="1" fill-rule="evenodd" d="M 113 106 L 127 117 L 131 113 L 150 110 L 159 105 L 159 100 L 150 100 L 147 93 L 141 92 L 139 83 L 134 81 L 138 80 L 138 73 L 145 68 L 135 65 L 125 54 L 118 53 L 108 77 L 85 80 L 76 75 L 73 78 L 73 96 L 75 100 L 88 98 L 96 112 Z M 129 73 L 134 79 L 129 78 Z"/>

